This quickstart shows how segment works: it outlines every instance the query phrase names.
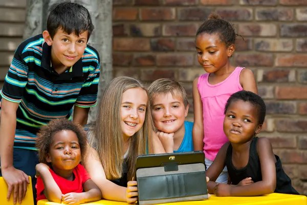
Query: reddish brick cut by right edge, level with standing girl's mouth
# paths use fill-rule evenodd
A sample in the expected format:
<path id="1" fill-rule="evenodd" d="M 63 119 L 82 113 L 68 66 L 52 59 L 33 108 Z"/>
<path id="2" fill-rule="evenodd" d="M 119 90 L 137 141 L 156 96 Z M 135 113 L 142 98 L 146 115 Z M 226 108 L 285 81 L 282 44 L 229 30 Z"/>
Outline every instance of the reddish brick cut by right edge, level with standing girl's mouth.
<path id="1" fill-rule="evenodd" d="M 307 67 L 307 54 L 277 54 L 275 65 L 282 67 Z"/>

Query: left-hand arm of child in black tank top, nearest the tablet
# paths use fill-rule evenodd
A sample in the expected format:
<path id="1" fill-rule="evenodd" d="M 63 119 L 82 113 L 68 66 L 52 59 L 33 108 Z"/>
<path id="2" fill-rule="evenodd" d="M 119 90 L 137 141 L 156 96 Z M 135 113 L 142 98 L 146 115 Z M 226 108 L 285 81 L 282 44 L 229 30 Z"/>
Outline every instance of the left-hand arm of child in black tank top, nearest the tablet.
<path id="1" fill-rule="evenodd" d="M 226 159 L 226 153 L 230 142 L 226 142 L 220 151 L 218 151 L 214 161 L 212 162 L 212 165 L 207 169 L 206 176 L 209 177 L 210 181 L 207 182 L 208 192 L 209 194 L 213 193 L 213 188 L 217 185 L 215 180 L 218 176 L 222 173 L 224 167 L 225 167 L 225 159 Z"/>

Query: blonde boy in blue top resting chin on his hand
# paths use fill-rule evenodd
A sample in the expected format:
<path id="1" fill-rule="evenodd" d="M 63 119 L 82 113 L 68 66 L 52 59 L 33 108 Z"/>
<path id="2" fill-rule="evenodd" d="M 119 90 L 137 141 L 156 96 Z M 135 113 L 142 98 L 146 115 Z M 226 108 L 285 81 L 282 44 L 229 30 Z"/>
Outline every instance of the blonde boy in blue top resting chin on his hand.
<path id="1" fill-rule="evenodd" d="M 189 103 L 184 88 L 172 79 L 154 81 L 148 88 L 151 115 L 166 152 L 193 151 L 193 122 L 185 121 Z"/>

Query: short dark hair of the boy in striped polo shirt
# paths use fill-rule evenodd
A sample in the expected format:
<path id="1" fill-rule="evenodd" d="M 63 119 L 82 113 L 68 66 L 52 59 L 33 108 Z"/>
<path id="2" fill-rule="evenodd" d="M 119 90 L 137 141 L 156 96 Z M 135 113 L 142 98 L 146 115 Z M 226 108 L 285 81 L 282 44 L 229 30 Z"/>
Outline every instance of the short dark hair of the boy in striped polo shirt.
<path id="1" fill-rule="evenodd" d="M 74 32 L 76 36 L 87 31 L 87 40 L 89 40 L 94 25 L 89 11 L 76 3 L 63 2 L 53 4 L 47 18 L 47 30 L 54 37 L 58 29 L 71 34 Z"/>

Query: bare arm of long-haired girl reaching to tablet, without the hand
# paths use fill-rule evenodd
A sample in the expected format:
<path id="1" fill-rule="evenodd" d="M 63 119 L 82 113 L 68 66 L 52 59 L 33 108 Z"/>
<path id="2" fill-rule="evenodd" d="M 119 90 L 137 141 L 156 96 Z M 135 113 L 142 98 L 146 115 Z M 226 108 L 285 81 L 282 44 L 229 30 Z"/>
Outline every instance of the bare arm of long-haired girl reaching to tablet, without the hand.
<path id="1" fill-rule="evenodd" d="M 100 189 L 102 198 L 114 201 L 127 201 L 127 188 L 118 186 L 112 181 L 106 179 L 96 150 L 89 148 L 86 159 L 83 161 L 83 166 L 87 173 L 89 173 L 93 182 Z"/>

